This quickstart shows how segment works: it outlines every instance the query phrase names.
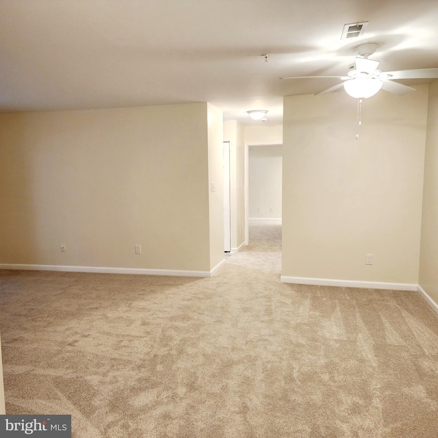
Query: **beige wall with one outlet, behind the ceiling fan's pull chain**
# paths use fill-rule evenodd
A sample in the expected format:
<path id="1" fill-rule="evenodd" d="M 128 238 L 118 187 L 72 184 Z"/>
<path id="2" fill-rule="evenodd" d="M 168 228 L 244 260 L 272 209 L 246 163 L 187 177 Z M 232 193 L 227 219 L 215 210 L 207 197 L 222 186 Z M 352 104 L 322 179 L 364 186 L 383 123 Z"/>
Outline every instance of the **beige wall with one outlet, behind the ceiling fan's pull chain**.
<path id="1" fill-rule="evenodd" d="M 287 96 L 283 276 L 418 282 L 428 86 Z M 365 266 L 365 254 L 374 264 Z"/>

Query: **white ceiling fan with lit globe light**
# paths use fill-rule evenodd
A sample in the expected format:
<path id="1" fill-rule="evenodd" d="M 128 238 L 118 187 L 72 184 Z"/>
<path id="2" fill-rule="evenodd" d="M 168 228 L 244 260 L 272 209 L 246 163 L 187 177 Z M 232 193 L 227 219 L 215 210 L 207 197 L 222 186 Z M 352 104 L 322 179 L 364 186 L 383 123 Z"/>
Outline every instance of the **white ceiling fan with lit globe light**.
<path id="1" fill-rule="evenodd" d="M 368 42 L 360 44 L 355 49 L 359 56 L 350 65 L 346 76 L 296 76 L 281 79 L 315 79 L 335 78 L 342 83 L 327 88 L 315 94 L 326 94 L 344 87 L 346 92 L 356 99 L 366 99 L 374 96 L 379 90 L 385 90 L 402 96 L 415 91 L 415 88 L 394 82 L 394 79 L 435 79 L 438 78 L 438 68 L 417 68 L 413 70 L 398 70 L 383 72 L 378 70 L 378 61 L 370 60 L 369 56 L 376 51 L 378 44 Z"/>

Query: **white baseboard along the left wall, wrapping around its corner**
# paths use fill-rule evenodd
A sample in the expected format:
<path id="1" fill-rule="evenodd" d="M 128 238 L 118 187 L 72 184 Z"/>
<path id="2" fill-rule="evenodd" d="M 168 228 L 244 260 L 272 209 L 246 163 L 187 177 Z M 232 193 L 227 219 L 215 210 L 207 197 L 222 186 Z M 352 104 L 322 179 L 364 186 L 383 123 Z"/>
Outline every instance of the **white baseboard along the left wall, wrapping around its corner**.
<path id="1" fill-rule="evenodd" d="M 219 265 L 221 265 L 219 263 Z M 141 268 L 101 268 L 96 266 L 61 266 L 61 265 L 25 265 L 0 263 L 0 269 L 30 270 L 30 271 L 62 271 L 62 272 L 94 272 L 98 274 L 137 274 L 137 275 L 164 275 L 164 276 L 211 276 L 211 271 L 189 271 L 172 269 L 141 269 Z"/>

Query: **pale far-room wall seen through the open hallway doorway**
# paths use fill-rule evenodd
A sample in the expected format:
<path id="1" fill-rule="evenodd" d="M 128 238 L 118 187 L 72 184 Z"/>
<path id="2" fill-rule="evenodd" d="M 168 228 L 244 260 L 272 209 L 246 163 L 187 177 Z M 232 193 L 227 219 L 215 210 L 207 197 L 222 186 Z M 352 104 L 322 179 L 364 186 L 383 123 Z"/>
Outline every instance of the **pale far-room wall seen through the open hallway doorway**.
<path id="1" fill-rule="evenodd" d="M 281 218 L 282 167 L 283 145 L 250 147 L 250 218 Z"/>

